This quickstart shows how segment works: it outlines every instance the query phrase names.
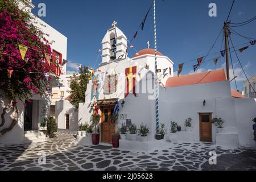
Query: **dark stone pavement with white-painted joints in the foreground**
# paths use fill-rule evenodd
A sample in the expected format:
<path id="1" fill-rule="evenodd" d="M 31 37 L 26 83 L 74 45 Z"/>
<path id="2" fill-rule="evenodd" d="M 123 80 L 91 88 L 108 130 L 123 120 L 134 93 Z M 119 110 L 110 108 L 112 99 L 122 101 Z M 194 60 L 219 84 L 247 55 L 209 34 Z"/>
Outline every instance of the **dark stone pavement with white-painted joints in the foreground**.
<path id="1" fill-rule="evenodd" d="M 210 166 L 209 151 L 217 152 Z M 46 164 L 39 165 L 42 151 Z M 79 146 L 71 134 L 59 132 L 47 142 L 0 148 L 0 170 L 255 170 L 256 152 L 228 150 L 208 143 L 177 143 L 152 152 L 108 146 Z"/>

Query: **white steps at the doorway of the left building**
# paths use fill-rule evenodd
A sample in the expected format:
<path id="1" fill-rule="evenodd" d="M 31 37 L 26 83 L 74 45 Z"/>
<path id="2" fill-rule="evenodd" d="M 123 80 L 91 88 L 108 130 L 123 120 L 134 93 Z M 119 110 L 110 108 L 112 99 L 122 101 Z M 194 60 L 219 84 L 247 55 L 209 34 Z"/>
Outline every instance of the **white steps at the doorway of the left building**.
<path id="1" fill-rule="evenodd" d="M 42 131 L 24 131 L 24 143 L 45 142 L 46 135 Z"/>

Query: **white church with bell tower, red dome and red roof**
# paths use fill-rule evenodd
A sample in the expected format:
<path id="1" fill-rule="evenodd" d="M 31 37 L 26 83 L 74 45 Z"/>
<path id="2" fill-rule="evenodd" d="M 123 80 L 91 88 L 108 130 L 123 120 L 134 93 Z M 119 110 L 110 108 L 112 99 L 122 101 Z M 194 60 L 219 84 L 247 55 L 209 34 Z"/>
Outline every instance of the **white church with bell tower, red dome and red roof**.
<path id="1" fill-rule="evenodd" d="M 127 138 L 119 140 L 119 145 L 127 149 L 152 150 L 163 146 L 162 141 L 168 142 L 170 122 L 175 121 L 181 126 L 178 141 L 210 142 L 226 147 L 255 145 L 251 122 L 256 117 L 255 99 L 247 99 L 232 90 L 224 69 L 174 76 L 174 62 L 160 52 L 157 52 L 158 116 L 159 123 L 166 127 L 166 137 L 156 140 L 155 51 L 147 48 L 132 57 L 126 56 L 127 38 L 115 23 L 112 26 L 102 39 L 102 63 L 88 84 L 85 102 L 79 106 L 78 121 L 85 123 L 90 122 L 97 103 L 101 115 L 100 142 L 112 143 L 112 134 L 122 123 L 133 123 L 137 127 L 144 123 L 150 129 L 147 142 Z M 119 117 L 118 122 L 113 123 L 110 117 L 116 101 L 119 102 Z M 184 126 L 188 118 L 192 118 L 191 131 L 186 131 Z M 210 122 L 212 118 L 225 121 L 222 132 Z"/>

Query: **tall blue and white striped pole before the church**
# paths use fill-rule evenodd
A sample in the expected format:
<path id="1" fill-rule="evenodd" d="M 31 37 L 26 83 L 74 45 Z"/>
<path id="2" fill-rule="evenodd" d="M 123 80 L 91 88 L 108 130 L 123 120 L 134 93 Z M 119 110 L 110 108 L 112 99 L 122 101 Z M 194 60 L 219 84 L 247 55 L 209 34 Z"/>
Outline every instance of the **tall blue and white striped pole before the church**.
<path id="1" fill-rule="evenodd" d="M 158 85 L 158 62 L 157 62 L 157 42 L 156 42 L 156 18 L 155 18 L 155 0 L 153 2 L 154 5 L 154 42 L 155 42 L 155 117 L 156 117 L 156 133 L 159 130 L 159 102 L 158 102 L 158 93 L 159 93 L 159 85 Z"/>

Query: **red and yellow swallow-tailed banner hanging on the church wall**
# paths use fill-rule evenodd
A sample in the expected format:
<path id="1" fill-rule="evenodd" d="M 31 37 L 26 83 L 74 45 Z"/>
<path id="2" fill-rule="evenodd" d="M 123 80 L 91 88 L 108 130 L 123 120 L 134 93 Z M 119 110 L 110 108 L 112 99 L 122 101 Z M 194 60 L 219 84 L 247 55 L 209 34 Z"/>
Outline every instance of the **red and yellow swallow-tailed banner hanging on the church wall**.
<path id="1" fill-rule="evenodd" d="M 133 90 L 133 94 L 137 97 L 136 94 L 136 74 L 137 74 L 137 67 L 130 67 L 125 69 L 125 76 L 126 76 L 126 84 L 125 84 L 125 98 L 128 94 Z"/>

